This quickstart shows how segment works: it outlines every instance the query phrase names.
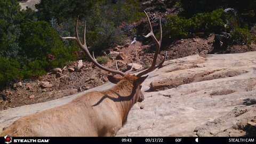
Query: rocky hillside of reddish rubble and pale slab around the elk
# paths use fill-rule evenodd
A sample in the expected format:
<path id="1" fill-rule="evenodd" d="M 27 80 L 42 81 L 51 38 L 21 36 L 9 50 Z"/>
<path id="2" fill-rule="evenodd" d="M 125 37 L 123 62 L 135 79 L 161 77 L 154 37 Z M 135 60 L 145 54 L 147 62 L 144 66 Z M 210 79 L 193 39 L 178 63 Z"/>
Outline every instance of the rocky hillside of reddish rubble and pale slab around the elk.
<path id="1" fill-rule="evenodd" d="M 35 9 L 37 2 L 20 5 Z M 172 1 L 142 2 L 150 14 L 161 17 L 180 11 L 166 8 Z M 143 30 L 137 42 L 131 44 L 127 38 L 124 45 L 103 52 L 109 57 L 103 65 L 115 68 L 117 60 L 119 69 L 125 70 L 133 63 L 133 73 L 148 68 L 155 46 L 151 38 L 142 37 L 148 32 L 146 19 L 139 26 Z M 118 136 L 256 136 L 256 45 L 231 45 L 213 52 L 213 39 L 214 34 L 195 35 L 161 47 L 158 61 L 168 52 L 164 67 L 142 84 L 145 100 L 132 108 Z M 86 60 L 14 83 L 0 93 L 0 131 L 22 116 L 111 86 L 107 73 Z"/>

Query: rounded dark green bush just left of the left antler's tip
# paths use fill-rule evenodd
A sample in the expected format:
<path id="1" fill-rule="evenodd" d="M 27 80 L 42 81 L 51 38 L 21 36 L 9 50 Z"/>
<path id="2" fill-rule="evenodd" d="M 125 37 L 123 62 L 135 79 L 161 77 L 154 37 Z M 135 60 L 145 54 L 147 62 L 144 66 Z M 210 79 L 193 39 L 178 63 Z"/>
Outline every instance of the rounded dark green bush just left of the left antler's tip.
<path id="1" fill-rule="evenodd" d="M 29 60 L 42 59 L 52 49 L 64 47 L 57 32 L 44 21 L 22 23 L 19 41 L 21 55 Z"/>

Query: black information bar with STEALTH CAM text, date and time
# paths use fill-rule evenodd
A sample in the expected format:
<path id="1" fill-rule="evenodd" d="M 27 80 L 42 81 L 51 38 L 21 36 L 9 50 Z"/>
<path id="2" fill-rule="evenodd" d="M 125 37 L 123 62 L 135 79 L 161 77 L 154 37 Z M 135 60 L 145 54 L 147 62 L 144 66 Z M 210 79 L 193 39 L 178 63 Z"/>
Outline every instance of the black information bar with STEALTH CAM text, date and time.
<path id="1" fill-rule="evenodd" d="M 11 137 L 11 135 L 10 135 Z M 255 143 L 255 137 L 11 137 L 10 143 Z M 198 142 L 196 142 L 196 139 Z M 1 137 L 0 144 L 5 143 Z"/>

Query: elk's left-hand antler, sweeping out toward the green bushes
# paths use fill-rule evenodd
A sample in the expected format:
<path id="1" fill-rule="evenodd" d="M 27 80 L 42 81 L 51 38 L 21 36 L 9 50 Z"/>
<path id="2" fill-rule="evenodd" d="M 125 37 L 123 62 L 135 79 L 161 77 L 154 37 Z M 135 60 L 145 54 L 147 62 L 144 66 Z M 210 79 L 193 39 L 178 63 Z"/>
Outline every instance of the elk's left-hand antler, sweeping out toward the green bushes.
<path id="1" fill-rule="evenodd" d="M 92 61 L 92 63 L 94 63 L 94 65 L 98 66 L 99 68 L 103 69 L 103 70 L 106 70 L 110 73 L 113 73 L 113 74 L 118 74 L 118 75 L 121 75 L 121 76 L 125 76 L 127 75 L 128 73 L 130 73 L 130 71 L 132 70 L 132 68 L 128 71 L 126 71 L 125 73 L 122 72 L 122 71 L 119 71 L 118 69 L 115 70 L 115 69 L 110 69 L 110 68 L 106 68 L 106 67 L 103 67 L 101 66 L 97 60 L 95 60 L 94 58 L 94 54 L 93 54 L 93 57 L 92 55 L 90 54 L 89 50 L 88 50 L 88 47 L 86 45 L 86 39 L 85 39 L 85 30 L 86 30 L 86 23 L 84 25 L 84 35 L 83 35 L 83 40 L 84 40 L 84 44 L 81 43 L 80 39 L 79 39 L 79 36 L 78 36 L 78 33 L 77 33 L 77 25 L 78 25 L 78 18 L 77 18 L 77 21 L 76 21 L 76 26 L 75 26 L 75 36 L 74 37 L 61 37 L 63 39 L 75 39 L 77 44 L 79 45 L 79 47 L 85 51 L 85 53 L 87 54 L 87 56 L 89 57 L 89 59 Z"/>

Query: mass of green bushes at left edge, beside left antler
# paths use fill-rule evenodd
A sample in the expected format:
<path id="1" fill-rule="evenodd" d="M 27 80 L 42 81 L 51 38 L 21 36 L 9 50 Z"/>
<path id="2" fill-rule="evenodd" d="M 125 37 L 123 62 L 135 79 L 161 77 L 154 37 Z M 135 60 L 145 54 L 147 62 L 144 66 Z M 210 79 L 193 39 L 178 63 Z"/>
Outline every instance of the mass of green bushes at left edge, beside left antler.
<path id="1" fill-rule="evenodd" d="M 73 52 L 77 47 L 72 43 L 63 45 L 55 29 L 44 21 L 21 23 L 18 42 L 21 47 L 18 58 L 0 59 L 0 87 L 17 78 L 41 76 L 52 68 L 76 60 Z"/>

